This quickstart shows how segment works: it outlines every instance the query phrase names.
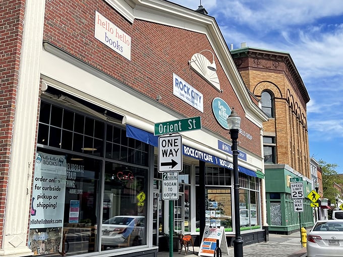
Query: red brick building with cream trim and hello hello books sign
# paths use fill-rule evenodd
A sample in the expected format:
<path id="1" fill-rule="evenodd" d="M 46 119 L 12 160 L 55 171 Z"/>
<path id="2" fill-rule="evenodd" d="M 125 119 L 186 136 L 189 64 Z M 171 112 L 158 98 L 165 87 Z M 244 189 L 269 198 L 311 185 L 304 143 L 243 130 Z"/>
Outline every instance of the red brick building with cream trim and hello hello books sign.
<path id="1" fill-rule="evenodd" d="M 245 242 L 265 240 L 267 116 L 213 17 L 155 0 L 20 0 L 0 10 L 0 255 L 156 256 L 170 211 L 170 230 L 198 244 L 205 226 L 230 243 L 235 208 Z M 242 118 L 236 207 L 232 107 Z M 201 129 L 169 123 L 194 117 Z M 160 122 L 182 135 L 182 144 L 161 140 L 173 147 L 163 163 Z M 164 177 L 162 166 L 179 173 Z M 178 183 L 162 184 L 170 177 Z"/>

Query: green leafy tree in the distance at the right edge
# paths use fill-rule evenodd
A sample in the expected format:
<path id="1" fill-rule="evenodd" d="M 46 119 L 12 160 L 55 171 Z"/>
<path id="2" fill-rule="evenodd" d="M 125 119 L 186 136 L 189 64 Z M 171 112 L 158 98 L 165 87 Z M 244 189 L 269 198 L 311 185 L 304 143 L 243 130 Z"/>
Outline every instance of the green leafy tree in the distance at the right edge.
<path id="1" fill-rule="evenodd" d="M 322 159 L 319 160 L 319 165 L 322 169 L 322 185 L 323 185 L 323 195 L 331 203 L 336 202 L 337 189 L 333 187 L 333 183 L 343 184 L 343 176 L 339 175 L 336 171 L 338 167 L 337 164 L 326 163 Z"/>

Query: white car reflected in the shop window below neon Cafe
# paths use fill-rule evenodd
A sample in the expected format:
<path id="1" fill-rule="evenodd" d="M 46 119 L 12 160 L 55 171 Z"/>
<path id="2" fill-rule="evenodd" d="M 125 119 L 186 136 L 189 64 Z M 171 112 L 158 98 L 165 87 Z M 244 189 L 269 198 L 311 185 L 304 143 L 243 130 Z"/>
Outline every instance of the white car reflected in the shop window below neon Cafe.
<path id="1" fill-rule="evenodd" d="M 102 223 L 101 244 L 103 247 L 141 245 L 145 238 L 144 216 L 115 216 Z"/>

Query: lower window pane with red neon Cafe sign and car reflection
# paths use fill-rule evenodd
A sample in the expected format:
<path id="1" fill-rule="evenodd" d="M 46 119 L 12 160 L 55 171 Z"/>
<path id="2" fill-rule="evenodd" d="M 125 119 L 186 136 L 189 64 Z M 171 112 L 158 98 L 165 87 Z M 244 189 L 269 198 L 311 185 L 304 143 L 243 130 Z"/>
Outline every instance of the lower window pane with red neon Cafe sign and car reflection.
<path id="1" fill-rule="evenodd" d="M 106 162 L 101 248 L 146 243 L 147 169 Z"/>

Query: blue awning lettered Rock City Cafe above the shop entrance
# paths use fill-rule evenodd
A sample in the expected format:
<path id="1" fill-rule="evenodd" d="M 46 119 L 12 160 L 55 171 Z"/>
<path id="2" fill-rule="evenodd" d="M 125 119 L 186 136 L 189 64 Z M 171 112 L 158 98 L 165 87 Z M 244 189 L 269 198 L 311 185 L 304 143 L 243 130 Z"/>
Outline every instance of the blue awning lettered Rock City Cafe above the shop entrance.
<path id="1" fill-rule="evenodd" d="M 149 145 L 158 147 L 158 136 L 154 136 L 152 133 L 138 129 L 137 127 L 126 125 L 126 136 L 128 138 L 134 138 Z M 234 165 L 232 162 L 220 159 L 214 155 L 202 152 L 189 146 L 183 145 L 182 152 L 184 155 L 192 157 L 197 160 L 209 162 L 227 169 L 233 169 Z M 256 173 L 250 169 L 238 166 L 238 170 L 248 176 L 256 177 Z"/>

